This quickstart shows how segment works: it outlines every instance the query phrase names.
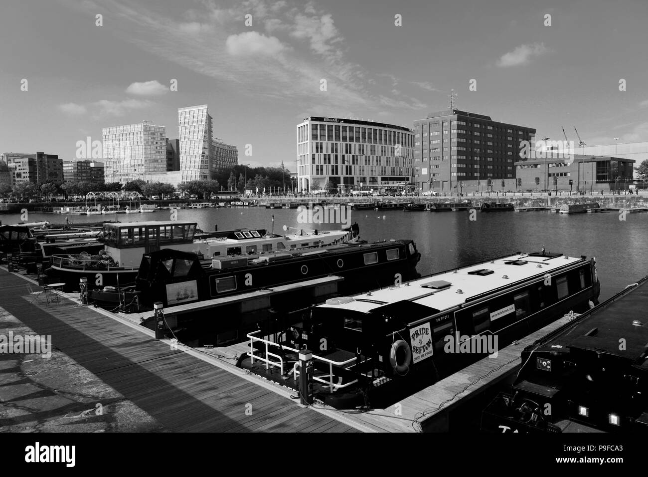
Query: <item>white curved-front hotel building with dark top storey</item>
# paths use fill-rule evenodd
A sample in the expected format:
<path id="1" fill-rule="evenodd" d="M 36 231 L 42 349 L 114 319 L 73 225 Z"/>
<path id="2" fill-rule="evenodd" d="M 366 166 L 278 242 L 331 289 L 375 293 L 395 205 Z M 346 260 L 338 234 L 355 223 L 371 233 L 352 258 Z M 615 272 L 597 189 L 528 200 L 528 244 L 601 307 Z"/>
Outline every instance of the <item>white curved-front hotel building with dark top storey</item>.
<path id="1" fill-rule="evenodd" d="M 410 128 L 360 119 L 307 117 L 297 125 L 297 190 L 403 189 L 413 181 Z"/>

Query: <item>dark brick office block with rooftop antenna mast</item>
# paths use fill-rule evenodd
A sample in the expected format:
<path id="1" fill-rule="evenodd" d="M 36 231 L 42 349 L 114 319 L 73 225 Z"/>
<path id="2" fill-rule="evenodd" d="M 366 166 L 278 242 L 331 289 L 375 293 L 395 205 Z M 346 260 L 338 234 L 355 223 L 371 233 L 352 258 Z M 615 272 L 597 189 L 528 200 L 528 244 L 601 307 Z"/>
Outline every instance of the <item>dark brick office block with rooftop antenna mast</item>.
<path id="1" fill-rule="evenodd" d="M 415 183 L 419 191 L 454 192 L 457 182 L 515 178 L 521 142 L 535 129 L 456 109 L 414 121 Z"/>

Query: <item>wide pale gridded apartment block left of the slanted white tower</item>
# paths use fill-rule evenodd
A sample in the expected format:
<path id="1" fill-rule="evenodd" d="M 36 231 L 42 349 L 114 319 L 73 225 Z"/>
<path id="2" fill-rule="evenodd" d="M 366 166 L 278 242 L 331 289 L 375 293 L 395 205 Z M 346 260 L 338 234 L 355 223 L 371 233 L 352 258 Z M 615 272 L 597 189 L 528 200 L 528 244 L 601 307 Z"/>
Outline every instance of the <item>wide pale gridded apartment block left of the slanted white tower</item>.
<path id="1" fill-rule="evenodd" d="M 103 128 L 106 182 L 125 184 L 167 171 L 166 132 L 150 121 Z"/>

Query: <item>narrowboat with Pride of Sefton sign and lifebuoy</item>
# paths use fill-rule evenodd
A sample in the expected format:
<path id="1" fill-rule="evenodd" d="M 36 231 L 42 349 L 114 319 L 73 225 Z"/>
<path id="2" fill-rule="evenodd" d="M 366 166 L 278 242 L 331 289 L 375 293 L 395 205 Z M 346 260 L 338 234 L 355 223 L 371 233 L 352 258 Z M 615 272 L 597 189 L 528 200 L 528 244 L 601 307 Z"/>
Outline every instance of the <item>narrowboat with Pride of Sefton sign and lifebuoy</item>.
<path id="1" fill-rule="evenodd" d="M 276 343 L 248 334 L 251 350 L 238 365 L 295 387 L 283 371 L 308 349 L 317 398 L 336 408 L 386 407 L 570 310 L 588 310 L 599 289 L 594 259 L 518 252 L 329 299 L 303 310 Z"/>

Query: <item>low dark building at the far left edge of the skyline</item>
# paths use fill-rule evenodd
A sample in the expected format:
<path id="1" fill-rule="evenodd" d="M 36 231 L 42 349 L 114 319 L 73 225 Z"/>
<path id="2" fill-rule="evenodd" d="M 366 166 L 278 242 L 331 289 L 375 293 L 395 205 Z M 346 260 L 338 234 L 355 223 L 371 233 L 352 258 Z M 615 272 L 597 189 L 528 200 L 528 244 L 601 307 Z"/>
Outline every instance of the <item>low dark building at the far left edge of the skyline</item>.
<path id="1" fill-rule="evenodd" d="M 14 184 L 63 182 L 63 160 L 56 154 L 4 153 L 1 160 L 12 174 Z"/>

